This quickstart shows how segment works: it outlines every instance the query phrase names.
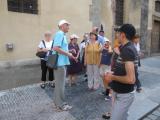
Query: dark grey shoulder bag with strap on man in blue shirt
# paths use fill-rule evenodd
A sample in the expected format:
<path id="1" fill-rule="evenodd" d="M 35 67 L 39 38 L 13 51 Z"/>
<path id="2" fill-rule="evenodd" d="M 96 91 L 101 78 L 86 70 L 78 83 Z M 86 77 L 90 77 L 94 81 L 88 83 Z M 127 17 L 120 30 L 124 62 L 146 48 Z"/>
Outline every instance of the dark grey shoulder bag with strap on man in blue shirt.
<path id="1" fill-rule="evenodd" d="M 64 40 L 64 38 L 63 38 Z M 63 43 L 63 40 L 62 40 L 62 43 Z M 62 45 L 61 43 L 61 45 Z M 51 46 L 51 50 L 49 51 L 49 54 L 47 56 L 47 59 L 46 59 L 46 65 L 47 67 L 51 68 L 51 69 L 57 69 L 57 62 L 58 62 L 58 52 L 55 51 L 55 53 L 53 54 L 53 45 L 54 45 L 54 40 L 53 40 L 53 43 L 52 43 L 52 46 Z"/>

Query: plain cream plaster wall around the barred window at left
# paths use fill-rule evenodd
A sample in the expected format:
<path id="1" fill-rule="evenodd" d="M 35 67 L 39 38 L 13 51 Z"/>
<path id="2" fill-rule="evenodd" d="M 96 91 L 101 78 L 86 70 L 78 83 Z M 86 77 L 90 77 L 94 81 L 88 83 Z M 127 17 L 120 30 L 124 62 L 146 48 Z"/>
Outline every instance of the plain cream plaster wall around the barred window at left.
<path id="1" fill-rule="evenodd" d="M 84 32 L 90 31 L 89 5 L 91 0 L 38 0 L 38 14 L 10 12 L 7 0 L 0 0 L 0 61 L 34 59 L 37 45 L 43 33 L 58 30 L 60 19 L 67 19 L 70 32 L 82 39 Z M 80 40 L 81 40 L 80 39 Z M 6 50 L 6 44 L 13 43 L 13 51 Z"/>

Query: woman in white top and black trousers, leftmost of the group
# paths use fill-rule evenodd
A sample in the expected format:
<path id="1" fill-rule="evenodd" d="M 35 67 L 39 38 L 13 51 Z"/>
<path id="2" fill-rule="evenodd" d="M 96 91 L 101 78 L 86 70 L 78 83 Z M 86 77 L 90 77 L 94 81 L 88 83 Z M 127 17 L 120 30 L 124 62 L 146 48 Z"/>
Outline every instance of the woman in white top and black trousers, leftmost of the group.
<path id="1" fill-rule="evenodd" d="M 38 52 L 47 52 L 49 50 L 51 50 L 51 46 L 52 46 L 52 33 L 50 31 L 47 31 L 44 33 L 44 40 L 41 40 L 39 46 L 38 46 L 38 49 L 37 51 Z M 54 83 L 53 83 L 53 80 L 54 80 L 54 73 L 53 73 L 53 69 L 51 68 L 48 68 L 46 66 L 46 61 L 44 58 L 41 58 L 41 71 L 42 71 L 42 75 L 41 75 L 41 80 L 42 80 L 42 84 L 41 84 L 41 88 L 45 88 L 46 87 L 46 75 L 47 75 L 47 71 L 49 72 L 49 85 L 51 87 L 54 87 Z"/>

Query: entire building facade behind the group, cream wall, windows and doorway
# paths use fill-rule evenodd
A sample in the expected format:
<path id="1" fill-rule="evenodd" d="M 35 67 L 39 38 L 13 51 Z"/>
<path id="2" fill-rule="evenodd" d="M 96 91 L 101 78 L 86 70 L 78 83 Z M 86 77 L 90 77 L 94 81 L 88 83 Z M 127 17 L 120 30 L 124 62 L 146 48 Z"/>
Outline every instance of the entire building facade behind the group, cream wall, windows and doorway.
<path id="1" fill-rule="evenodd" d="M 132 23 L 144 52 L 160 52 L 160 0 L 0 0 L 0 61 L 35 59 L 43 33 L 55 33 L 60 19 L 80 40 L 102 24 L 113 41 L 114 27 Z"/>

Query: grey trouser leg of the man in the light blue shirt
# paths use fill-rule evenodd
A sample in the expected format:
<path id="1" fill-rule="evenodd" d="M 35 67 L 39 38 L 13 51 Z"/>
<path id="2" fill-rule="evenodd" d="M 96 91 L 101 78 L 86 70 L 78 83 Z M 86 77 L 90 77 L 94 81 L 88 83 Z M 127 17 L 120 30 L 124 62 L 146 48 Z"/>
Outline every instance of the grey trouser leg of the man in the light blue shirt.
<path id="1" fill-rule="evenodd" d="M 65 89 L 65 77 L 66 72 L 64 67 L 59 67 L 55 70 L 55 91 L 54 91 L 54 103 L 57 107 L 62 107 L 64 101 L 64 89 Z"/>

